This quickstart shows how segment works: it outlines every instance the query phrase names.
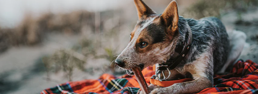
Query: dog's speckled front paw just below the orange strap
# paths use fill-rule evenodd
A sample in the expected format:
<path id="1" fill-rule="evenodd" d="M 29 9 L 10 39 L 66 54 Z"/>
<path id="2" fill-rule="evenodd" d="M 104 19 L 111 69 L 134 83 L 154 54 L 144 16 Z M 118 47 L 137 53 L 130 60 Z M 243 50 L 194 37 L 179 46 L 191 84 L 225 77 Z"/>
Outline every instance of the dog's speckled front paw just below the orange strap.
<path id="1" fill-rule="evenodd" d="M 150 94 L 179 94 L 177 91 L 174 91 L 172 88 L 155 88 L 151 91 Z"/>

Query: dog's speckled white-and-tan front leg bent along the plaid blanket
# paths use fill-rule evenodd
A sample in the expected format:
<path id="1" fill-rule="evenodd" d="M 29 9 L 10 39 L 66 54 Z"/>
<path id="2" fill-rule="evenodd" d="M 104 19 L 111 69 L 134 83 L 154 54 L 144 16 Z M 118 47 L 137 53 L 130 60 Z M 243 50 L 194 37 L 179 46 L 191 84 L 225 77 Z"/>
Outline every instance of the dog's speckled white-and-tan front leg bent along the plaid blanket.
<path id="1" fill-rule="evenodd" d="M 185 71 L 190 72 L 195 80 L 176 83 L 169 87 L 156 88 L 150 94 L 189 94 L 198 93 L 201 90 L 213 86 L 213 61 L 208 54 L 201 55 L 199 59 L 184 66 Z"/>

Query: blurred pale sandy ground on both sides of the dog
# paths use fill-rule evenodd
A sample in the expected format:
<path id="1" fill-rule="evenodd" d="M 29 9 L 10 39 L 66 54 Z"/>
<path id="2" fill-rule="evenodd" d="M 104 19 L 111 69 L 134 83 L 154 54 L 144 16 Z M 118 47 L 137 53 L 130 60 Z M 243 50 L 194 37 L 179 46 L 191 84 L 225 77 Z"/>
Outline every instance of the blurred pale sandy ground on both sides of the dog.
<path id="1" fill-rule="evenodd" d="M 258 25 L 255 22 L 258 11 L 243 14 L 243 24 L 236 25 L 235 13 L 229 13 L 222 17 L 223 23 L 228 30 L 240 30 L 246 33 L 247 40 L 240 59 L 251 59 L 258 62 L 258 45 L 256 35 L 258 35 Z M 246 23 L 248 24 L 246 24 Z M 63 78 L 63 74 L 51 74 L 51 79 L 46 80 L 46 70 L 41 61 L 42 56 L 53 53 L 58 48 L 69 48 L 80 38 L 79 35 L 49 34 L 47 40 L 40 46 L 35 47 L 14 47 L 0 54 L 0 94 L 35 94 L 43 89 L 53 87 L 57 84 L 68 81 Z M 121 48 L 123 49 L 123 48 Z M 92 60 L 89 62 L 103 62 L 104 60 Z M 95 64 L 87 64 L 87 67 Z M 105 72 L 98 70 L 94 73 L 85 73 L 75 70 L 73 80 L 97 79 Z"/>

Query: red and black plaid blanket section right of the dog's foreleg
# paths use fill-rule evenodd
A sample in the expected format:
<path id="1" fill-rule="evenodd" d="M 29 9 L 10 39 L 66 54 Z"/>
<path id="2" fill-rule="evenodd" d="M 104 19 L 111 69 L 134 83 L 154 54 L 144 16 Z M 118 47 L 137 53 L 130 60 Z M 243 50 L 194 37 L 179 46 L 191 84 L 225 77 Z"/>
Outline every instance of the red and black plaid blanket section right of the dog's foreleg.
<path id="1" fill-rule="evenodd" d="M 237 61 L 230 74 L 216 75 L 214 87 L 200 94 L 258 94 L 258 65 L 251 60 Z"/>

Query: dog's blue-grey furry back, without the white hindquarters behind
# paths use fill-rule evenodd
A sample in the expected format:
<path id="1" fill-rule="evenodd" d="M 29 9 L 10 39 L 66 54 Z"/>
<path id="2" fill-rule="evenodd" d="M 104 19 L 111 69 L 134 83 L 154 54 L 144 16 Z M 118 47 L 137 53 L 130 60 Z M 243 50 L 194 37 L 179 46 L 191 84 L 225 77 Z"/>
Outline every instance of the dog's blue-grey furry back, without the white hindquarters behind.
<path id="1" fill-rule="evenodd" d="M 218 72 L 227 61 L 230 50 L 229 37 L 224 25 L 215 17 L 205 17 L 200 20 L 187 19 L 187 22 L 193 33 L 193 45 L 196 45 L 199 51 L 196 53 L 201 54 L 204 49 L 211 47 L 213 72 Z"/>

